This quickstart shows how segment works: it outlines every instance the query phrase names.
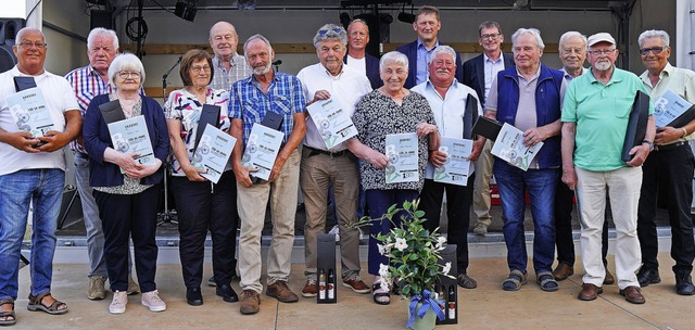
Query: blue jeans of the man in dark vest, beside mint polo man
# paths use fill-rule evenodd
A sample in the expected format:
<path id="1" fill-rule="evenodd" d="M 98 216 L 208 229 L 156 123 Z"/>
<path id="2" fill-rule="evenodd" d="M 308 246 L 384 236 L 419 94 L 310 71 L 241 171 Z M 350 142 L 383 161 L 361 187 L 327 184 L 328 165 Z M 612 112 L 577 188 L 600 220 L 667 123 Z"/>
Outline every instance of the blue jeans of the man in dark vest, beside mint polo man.
<path id="1" fill-rule="evenodd" d="M 557 168 L 523 172 L 506 162 L 495 162 L 494 175 L 500 189 L 504 214 L 504 240 L 507 243 L 509 270 L 526 271 L 528 255 L 523 232 L 526 191 L 531 199 L 533 215 L 533 270 L 552 271 L 555 257 L 555 189 Z"/>

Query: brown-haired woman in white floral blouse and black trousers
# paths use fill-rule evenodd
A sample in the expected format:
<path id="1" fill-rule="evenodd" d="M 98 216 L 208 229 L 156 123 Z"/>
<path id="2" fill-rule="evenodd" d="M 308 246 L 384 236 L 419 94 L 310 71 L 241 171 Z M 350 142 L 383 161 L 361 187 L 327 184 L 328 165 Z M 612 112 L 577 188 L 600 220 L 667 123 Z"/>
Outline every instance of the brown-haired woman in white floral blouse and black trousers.
<path id="1" fill-rule="evenodd" d="M 213 78 L 210 54 L 194 49 L 181 60 L 182 89 L 169 94 L 164 104 L 172 143 L 172 192 L 176 201 L 179 255 L 189 305 L 203 304 L 200 285 L 203 279 L 204 244 L 210 230 L 213 241 L 213 277 L 217 295 L 225 302 L 237 302 L 230 282 L 235 272 L 235 239 L 237 233 L 237 185 L 231 165 L 227 164 L 217 185 L 203 178 L 205 170 L 191 164 L 198 122 L 203 104 L 220 107 L 219 126 L 228 131 L 229 91 L 207 87 Z"/>

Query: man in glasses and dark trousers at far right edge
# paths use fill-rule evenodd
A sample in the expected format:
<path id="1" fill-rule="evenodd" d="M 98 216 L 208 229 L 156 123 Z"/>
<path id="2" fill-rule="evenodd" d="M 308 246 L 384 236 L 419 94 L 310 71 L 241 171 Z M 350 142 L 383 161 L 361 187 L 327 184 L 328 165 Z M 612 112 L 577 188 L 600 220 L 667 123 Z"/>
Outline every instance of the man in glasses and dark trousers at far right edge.
<path id="1" fill-rule="evenodd" d="M 644 88 L 656 106 L 657 101 L 670 90 L 690 103 L 695 103 L 695 72 L 673 67 L 669 63 L 671 49 L 669 35 L 662 30 L 647 30 L 637 39 L 642 63 L 646 71 L 640 76 Z M 695 120 L 683 127 L 657 128 L 654 152 L 642 166 L 642 192 L 637 208 L 637 234 L 642 249 L 642 268 L 637 272 L 641 287 L 661 281 L 659 278 L 659 251 L 656 224 L 657 195 L 668 195 L 669 223 L 671 225 L 671 257 L 675 261 L 675 292 L 695 294 L 691 278 L 695 242 L 691 202 L 693 200 L 693 152 L 690 141 L 695 139 Z M 659 193 L 657 193 L 659 191 Z"/>

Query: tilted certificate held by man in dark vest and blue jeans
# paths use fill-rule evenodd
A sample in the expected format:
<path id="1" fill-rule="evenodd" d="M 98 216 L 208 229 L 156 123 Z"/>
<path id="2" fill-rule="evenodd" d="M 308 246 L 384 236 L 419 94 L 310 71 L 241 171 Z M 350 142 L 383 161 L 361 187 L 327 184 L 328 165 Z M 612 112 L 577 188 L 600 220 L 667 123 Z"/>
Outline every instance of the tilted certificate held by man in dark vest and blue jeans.
<path id="1" fill-rule="evenodd" d="M 523 131 L 504 123 L 491 153 L 513 166 L 527 170 L 542 147 L 543 142 L 539 142 L 533 147 L 526 147 L 523 144 Z"/>

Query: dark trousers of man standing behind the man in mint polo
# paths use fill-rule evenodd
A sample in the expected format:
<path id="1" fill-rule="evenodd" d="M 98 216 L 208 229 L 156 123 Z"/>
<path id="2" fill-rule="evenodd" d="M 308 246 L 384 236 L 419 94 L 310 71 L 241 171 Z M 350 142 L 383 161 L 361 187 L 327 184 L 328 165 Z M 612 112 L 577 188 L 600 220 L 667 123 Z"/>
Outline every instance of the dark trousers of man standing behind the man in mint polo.
<path id="1" fill-rule="evenodd" d="M 557 263 L 570 267 L 574 266 L 574 239 L 572 238 L 572 207 L 574 191 L 569 189 L 563 180 L 557 180 L 555 189 L 555 245 L 557 246 Z M 606 213 L 608 214 L 608 213 Z M 604 221 L 601 237 L 602 257 L 604 266 L 608 264 L 608 221 Z"/>

